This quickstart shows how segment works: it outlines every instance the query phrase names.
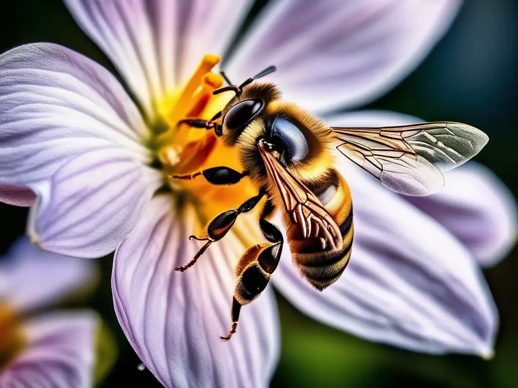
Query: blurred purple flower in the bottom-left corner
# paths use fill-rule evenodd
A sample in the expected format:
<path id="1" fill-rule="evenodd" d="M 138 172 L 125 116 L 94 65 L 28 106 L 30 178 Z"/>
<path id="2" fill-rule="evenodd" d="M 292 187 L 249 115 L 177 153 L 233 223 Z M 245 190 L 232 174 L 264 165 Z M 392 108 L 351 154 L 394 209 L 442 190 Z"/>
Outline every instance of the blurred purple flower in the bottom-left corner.
<path id="1" fill-rule="evenodd" d="M 0 386 L 93 385 L 97 315 L 90 310 L 39 312 L 86 286 L 94 274 L 92 264 L 41 251 L 27 238 L 2 258 Z"/>

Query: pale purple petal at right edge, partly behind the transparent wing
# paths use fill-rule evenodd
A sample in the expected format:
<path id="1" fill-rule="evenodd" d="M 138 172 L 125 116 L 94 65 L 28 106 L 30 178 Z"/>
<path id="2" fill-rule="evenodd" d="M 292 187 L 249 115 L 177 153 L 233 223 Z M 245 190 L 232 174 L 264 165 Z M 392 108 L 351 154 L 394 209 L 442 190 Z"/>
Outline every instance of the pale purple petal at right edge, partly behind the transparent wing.
<path id="1" fill-rule="evenodd" d="M 342 127 L 423 122 L 417 117 L 384 111 L 352 112 L 331 116 L 327 121 Z M 445 173 L 445 185 L 434 195 L 402 198 L 439 221 L 482 265 L 498 262 L 516 241 L 517 210 L 512 193 L 493 172 L 476 162 Z"/>

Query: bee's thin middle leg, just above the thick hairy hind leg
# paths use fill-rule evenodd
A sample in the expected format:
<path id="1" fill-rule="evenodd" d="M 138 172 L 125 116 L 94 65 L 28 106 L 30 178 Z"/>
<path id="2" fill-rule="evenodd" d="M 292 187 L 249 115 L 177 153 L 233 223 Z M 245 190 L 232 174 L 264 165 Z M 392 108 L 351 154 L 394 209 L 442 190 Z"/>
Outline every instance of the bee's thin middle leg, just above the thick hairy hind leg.
<path id="1" fill-rule="evenodd" d="M 264 189 L 261 189 L 258 195 L 244 201 L 241 204 L 241 206 L 239 206 L 237 209 L 227 210 L 215 216 L 207 226 L 205 232 L 206 237 L 198 238 L 196 236 L 190 236 L 189 240 L 194 239 L 198 241 L 206 241 L 207 243 L 198 251 L 198 253 L 196 253 L 194 258 L 189 263 L 182 265 L 181 267 L 176 267 L 175 270 L 178 272 L 183 272 L 187 268 L 192 267 L 196 260 L 198 260 L 199 257 L 202 256 L 203 252 L 205 252 L 205 250 L 209 247 L 210 244 L 212 244 L 215 241 L 221 240 L 227 234 L 227 232 L 231 230 L 232 226 L 234 225 L 234 222 L 236 222 L 238 215 L 250 212 L 265 195 L 266 191 Z"/>

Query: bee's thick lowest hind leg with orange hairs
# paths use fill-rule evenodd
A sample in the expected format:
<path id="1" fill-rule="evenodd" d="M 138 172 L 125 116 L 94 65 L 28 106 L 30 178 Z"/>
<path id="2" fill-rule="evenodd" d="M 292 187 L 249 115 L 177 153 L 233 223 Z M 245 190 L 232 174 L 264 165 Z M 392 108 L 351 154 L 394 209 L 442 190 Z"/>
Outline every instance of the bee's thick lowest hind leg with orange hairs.
<path id="1" fill-rule="evenodd" d="M 281 257 L 283 238 L 279 228 L 264 218 L 259 220 L 261 232 L 269 243 L 254 245 L 243 253 L 237 263 L 237 281 L 232 302 L 232 329 L 224 341 L 236 333 L 241 306 L 256 299 L 268 285 Z"/>

